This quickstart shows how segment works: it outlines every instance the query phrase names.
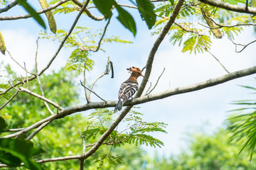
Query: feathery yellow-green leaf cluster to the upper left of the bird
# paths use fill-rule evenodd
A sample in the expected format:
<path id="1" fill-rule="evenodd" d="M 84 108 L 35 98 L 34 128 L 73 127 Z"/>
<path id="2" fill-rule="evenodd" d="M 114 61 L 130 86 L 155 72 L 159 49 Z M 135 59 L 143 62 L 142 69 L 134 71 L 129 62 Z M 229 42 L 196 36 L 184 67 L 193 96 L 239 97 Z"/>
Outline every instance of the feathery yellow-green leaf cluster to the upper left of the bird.
<path id="1" fill-rule="evenodd" d="M 42 32 L 39 35 L 43 39 L 51 39 L 60 42 L 67 34 L 67 30 L 57 30 L 56 34 Z M 78 74 L 81 74 L 84 69 L 90 71 L 94 65 L 94 61 L 90 59 L 90 52 L 94 52 L 97 49 L 104 52 L 105 50 L 103 50 L 102 45 L 105 43 L 132 43 L 127 40 L 121 40 L 118 36 L 110 36 L 108 38 L 102 38 L 102 42 L 99 44 L 101 37 L 102 30 L 97 30 L 96 33 L 94 33 L 90 28 L 80 26 L 75 27 L 73 33 L 71 33 L 64 45 L 65 47 L 75 48 L 75 50 L 71 52 L 65 68 L 68 71 L 78 72 Z"/>

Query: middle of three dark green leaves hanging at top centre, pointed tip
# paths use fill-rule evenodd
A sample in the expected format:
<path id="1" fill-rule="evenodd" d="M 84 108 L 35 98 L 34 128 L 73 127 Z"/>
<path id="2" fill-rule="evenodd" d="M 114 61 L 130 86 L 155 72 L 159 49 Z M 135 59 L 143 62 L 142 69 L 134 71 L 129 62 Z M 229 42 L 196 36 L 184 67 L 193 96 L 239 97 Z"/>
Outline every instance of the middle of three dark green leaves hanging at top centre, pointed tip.
<path id="1" fill-rule="evenodd" d="M 125 11 L 122 7 L 116 4 L 117 11 L 119 15 L 117 16 L 117 19 L 122 23 L 122 25 L 130 30 L 133 35 L 135 36 L 137 33 L 136 23 L 134 21 L 134 18 L 129 14 L 127 11 Z"/>

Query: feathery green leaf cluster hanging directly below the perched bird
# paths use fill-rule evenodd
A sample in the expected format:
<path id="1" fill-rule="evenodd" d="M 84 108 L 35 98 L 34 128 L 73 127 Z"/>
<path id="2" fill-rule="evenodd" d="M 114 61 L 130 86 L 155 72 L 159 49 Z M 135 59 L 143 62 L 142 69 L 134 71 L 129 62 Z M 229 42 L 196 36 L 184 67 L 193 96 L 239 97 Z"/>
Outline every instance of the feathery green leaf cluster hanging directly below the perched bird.
<path id="1" fill-rule="evenodd" d="M 103 142 L 105 145 L 112 145 L 114 148 L 124 145 L 146 145 L 151 147 L 161 147 L 164 145 L 161 140 L 156 139 L 150 132 L 166 132 L 165 123 L 146 123 L 142 120 L 143 114 L 137 111 L 130 111 L 126 118 L 122 120 L 126 123 L 126 128 L 123 130 L 113 130 L 109 137 Z M 107 109 L 97 109 L 94 113 L 88 116 L 88 122 L 86 124 L 87 130 L 82 132 L 85 135 L 85 140 L 93 141 L 98 139 L 107 128 L 114 121 L 117 115 Z M 96 158 L 96 162 L 99 163 L 99 167 L 102 166 L 104 160 L 107 159 L 111 164 L 122 163 L 121 157 L 113 154 L 101 154 Z"/>

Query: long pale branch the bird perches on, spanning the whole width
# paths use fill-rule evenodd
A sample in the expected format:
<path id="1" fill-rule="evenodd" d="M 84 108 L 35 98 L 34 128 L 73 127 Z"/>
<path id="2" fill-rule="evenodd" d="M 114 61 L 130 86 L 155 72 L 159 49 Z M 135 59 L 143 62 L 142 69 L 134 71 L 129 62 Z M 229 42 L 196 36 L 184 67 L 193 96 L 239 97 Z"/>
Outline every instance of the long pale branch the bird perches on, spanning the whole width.
<path id="1" fill-rule="evenodd" d="M 202 81 L 201 83 L 198 83 L 198 84 L 177 87 L 175 89 L 168 89 L 166 91 L 162 91 L 161 93 L 158 93 L 158 94 L 150 94 L 148 96 L 134 98 L 134 99 L 129 100 L 126 103 L 124 103 L 124 106 L 134 106 L 134 105 L 141 104 L 141 103 L 147 103 L 149 101 L 156 101 L 156 100 L 159 100 L 162 98 L 167 98 L 167 97 L 174 96 L 177 94 L 186 94 L 188 92 L 206 89 L 210 86 L 216 86 L 218 84 L 223 84 L 227 81 L 230 81 L 233 79 L 238 79 L 240 77 L 245 77 L 245 76 L 255 74 L 255 73 L 256 73 L 256 66 L 250 67 L 247 69 L 242 69 L 237 72 L 231 72 L 229 74 L 225 74 L 221 77 L 216 77 L 214 79 L 208 79 L 208 80 Z M 34 123 L 33 125 L 29 126 L 28 128 L 25 128 L 24 130 L 21 130 L 19 132 L 11 134 L 11 135 L 6 135 L 5 137 L 2 137 L 2 138 L 16 137 L 18 135 L 25 134 L 26 132 L 29 132 L 33 128 L 38 128 L 40 125 L 42 125 L 45 122 L 48 122 L 49 120 L 64 118 L 67 115 L 72 115 L 73 113 L 77 113 L 80 111 L 87 111 L 90 109 L 114 107 L 114 106 L 116 106 L 116 104 L 117 104 L 117 101 L 91 102 L 91 103 L 87 103 L 85 105 L 74 106 L 72 108 L 65 108 L 65 109 L 63 109 L 63 111 L 60 111 L 54 115 L 50 115 L 48 118 L 40 120 L 39 122 Z"/>

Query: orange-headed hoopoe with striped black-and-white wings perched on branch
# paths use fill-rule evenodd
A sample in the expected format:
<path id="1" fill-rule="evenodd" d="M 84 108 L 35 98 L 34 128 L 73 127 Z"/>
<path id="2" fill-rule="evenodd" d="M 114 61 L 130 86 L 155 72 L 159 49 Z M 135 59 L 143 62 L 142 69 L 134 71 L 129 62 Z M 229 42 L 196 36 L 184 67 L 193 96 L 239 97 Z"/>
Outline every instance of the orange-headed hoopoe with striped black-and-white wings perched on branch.
<path id="1" fill-rule="evenodd" d="M 131 76 L 129 77 L 129 79 L 127 79 L 127 81 L 124 81 L 119 89 L 119 93 L 118 93 L 118 103 L 117 106 L 115 106 L 114 108 L 114 112 L 115 111 L 121 111 L 122 106 L 124 105 L 124 103 L 130 98 L 132 97 L 132 95 L 135 94 L 135 92 L 139 89 L 138 86 L 138 81 L 137 78 L 142 76 L 142 71 L 137 68 L 137 67 L 129 67 L 129 70 L 131 73 Z M 144 77 L 146 79 L 146 77 Z M 147 79 L 146 79 L 147 80 Z"/>

